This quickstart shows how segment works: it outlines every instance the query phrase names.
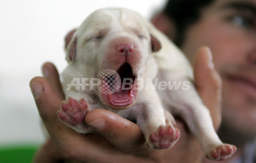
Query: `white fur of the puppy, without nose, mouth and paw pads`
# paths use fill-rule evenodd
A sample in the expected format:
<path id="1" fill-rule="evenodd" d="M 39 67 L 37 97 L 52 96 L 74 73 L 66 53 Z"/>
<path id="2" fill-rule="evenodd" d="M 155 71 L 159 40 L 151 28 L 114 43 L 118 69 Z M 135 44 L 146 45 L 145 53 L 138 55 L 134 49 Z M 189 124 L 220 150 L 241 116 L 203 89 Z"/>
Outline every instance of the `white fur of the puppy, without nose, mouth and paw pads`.
<path id="1" fill-rule="evenodd" d="M 158 52 L 152 52 L 150 34 L 161 42 L 162 48 Z M 150 22 L 134 11 L 108 8 L 93 12 L 74 33 L 67 48 L 69 64 L 62 73 L 63 90 L 66 90 L 67 84 L 71 83 L 73 78 L 95 78 L 103 69 L 118 69 L 124 63 L 124 57 L 114 52 L 113 46 L 122 41 L 136 46 L 131 58 L 126 57 L 125 62 L 129 62 L 137 78 L 158 78 L 158 81 L 171 82 L 193 80 L 192 68 L 186 57 Z M 70 49 L 75 42 L 76 55 L 70 57 Z M 154 86 L 152 82 L 145 84 Z M 106 103 L 97 89 L 76 90 L 76 87 L 73 87 L 65 91 L 65 95 L 67 98 L 85 99 L 90 110 L 105 108 L 124 118 L 136 120 L 145 134 L 147 143 L 150 141 L 150 135 L 160 126 L 170 125 L 175 132 L 175 122 L 169 113 L 179 115 L 198 138 L 204 152 L 211 157 L 209 153 L 212 148 L 223 143 L 214 131 L 209 111 L 195 87 L 192 83 L 189 86 L 188 90 L 165 91 L 147 87 L 151 89 L 138 90 L 136 101 L 121 108 Z M 80 133 L 91 132 L 83 125 L 67 125 Z M 152 143 L 149 142 L 148 145 L 152 147 Z"/>

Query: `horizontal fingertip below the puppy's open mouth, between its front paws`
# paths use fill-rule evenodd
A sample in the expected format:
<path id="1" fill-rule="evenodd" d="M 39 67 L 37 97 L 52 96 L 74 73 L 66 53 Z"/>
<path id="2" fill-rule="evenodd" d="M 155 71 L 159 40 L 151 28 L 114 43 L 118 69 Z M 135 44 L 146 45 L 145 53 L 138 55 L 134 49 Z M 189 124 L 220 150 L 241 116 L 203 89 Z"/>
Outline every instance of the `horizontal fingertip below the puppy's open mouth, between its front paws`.
<path id="1" fill-rule="evenodd" d="M 149 152 L 140 127 L 111 111 L 92 110 L 86 114 L 85 122 L 122 152 Z"/>

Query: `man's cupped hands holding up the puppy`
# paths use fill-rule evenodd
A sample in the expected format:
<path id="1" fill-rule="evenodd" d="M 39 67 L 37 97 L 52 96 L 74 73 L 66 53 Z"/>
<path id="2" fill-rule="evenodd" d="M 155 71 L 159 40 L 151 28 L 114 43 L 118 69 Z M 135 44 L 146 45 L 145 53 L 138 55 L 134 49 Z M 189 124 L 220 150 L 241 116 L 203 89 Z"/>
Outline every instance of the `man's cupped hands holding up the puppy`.
<path id="1" fill-rule="evenodd" d="M 209 55 L 206 48 L 198 51 L 195 62 L 195 83 L 200 96 L 208 106 L 214 126 L 220 124 L 220 78 L 208 66 Z M 45 78 L 31 80 L 31 90 L 45 127 L 52 141 L 48 141 L 35 157 L 35 162 L 200 162 L 202 150 L 198 141 L 188 131 L 183 122 L 178 121 L 180 140 L 168 150 L 149 150 L 138 125 L 133 124 L 115 113 L 106 110 L 92 110 L 87 113 L 85 122 L 102 118 L 105 123 L 93 127 L 99 135 L 77 134 L 58 120 L 56 112 L 64 99 L 58 71 L 50 64 L 44 64 Z M 49 149 L 47 149 L 49 148 Z M 47 160 L 45 160 L 47 159 Z"/>

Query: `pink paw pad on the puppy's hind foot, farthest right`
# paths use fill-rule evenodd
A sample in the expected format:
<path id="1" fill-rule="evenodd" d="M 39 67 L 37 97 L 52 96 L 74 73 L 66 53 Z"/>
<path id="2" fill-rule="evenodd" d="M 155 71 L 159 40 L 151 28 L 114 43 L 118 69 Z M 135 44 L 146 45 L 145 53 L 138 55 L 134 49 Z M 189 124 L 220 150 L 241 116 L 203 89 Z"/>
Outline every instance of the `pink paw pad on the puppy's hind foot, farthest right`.
<path id="1" fill-rule="evenodd" d="M 231 157 L 236 150 L 234 145 L 223 144 L 212 148 L 207 157 L 212 160 L 225 160 Z"/>

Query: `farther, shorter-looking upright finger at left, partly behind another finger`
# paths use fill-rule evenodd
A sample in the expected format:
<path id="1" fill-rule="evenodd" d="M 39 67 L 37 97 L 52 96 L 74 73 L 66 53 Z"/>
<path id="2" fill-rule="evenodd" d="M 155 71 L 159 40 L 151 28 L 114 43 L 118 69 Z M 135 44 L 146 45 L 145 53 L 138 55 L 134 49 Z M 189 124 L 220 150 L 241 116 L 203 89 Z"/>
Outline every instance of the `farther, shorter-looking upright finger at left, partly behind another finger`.
<path id="1" fill-rule="evenodd" d="M 52 89 L 54 89 L 54 92 L 56 92 L 58 97 L 60 97 L 60 99 L 64 99 L 65 95 L 61 88 L 60 76 L 56 67 L 50 62 L 46 62 L 42 66 L 42 72 L 44 74 L 44 78 L 49 81 Z"/>

